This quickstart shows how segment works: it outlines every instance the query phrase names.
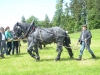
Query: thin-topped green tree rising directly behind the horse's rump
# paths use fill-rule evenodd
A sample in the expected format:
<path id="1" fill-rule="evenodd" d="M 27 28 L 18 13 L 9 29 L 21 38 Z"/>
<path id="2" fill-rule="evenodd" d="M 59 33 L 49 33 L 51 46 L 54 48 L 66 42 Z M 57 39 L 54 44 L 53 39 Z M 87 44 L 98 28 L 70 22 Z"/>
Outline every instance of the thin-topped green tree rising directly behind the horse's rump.
<path id="1" fill-rule="evenodd" d="M 70 15 L 70 7 L 68 6 L 68 3 L 65 3 L 64 15 L 65 18 L 63 17 L 63 28 L 67 30 L 69 33 L 74 32 L 75 21 L 74 18 Z"/>

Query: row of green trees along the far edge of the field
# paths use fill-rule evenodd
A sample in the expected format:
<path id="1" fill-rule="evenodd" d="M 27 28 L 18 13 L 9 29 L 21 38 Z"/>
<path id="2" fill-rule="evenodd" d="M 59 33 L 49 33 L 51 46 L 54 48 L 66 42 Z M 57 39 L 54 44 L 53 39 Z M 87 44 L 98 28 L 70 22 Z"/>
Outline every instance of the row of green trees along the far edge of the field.
<path id="1" fill-rule="evenodd" d="M 60 26 L 69 33 L 80 31 L 83 24 L 87 24 L 88 29 L 98 29 L 100 28 L 100 0 L 70 0 L 70 3 L 57 0 L 52 21 L 46 14 L 43 21 L 39 21 L 32 15 L 27 20 L 22 16 L 21 22 L 31 23 L 32 20 L 38 26 L 47 28 Z"/>

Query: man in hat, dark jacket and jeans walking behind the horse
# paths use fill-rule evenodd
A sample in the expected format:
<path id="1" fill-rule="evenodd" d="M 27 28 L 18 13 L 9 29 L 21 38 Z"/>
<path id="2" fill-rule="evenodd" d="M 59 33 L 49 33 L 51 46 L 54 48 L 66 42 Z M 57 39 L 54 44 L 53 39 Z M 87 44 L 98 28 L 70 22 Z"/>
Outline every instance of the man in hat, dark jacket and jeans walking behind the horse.
<path id="1" fill-rule="evenodd" d="M 82 55 L 83 55 L 83 51 L 85 47 L 92 55 L 92 58 L 96 58 L 96 56 L 94 55 L 93 51 L 90 48 L 91 38 L 92 38 L 92 35 L 91 35 L 91 32 L 87 30 L 87 25 L 82 25 L 82 32 L 78 40 L 78 43 L 81 44 L 81 49 L 80 49 L 79 58 L 77 58 L 76 60 L 82 59 Z"/>

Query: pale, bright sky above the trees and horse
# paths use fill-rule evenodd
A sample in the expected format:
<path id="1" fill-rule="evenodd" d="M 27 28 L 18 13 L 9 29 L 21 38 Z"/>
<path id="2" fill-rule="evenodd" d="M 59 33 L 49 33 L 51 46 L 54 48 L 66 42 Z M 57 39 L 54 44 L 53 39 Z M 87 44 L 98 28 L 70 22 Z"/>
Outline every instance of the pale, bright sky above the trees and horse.
<path id="1" fill-rule="evenodd" d="M 0 27 L 9 26 L 12 30 L 14 24 L 21 21 L 22 16 L 28 19 L 33 15 L 44 20 L 47 14 L 52 20 L 55 11 L 56 0 L 0 0 Z"/>

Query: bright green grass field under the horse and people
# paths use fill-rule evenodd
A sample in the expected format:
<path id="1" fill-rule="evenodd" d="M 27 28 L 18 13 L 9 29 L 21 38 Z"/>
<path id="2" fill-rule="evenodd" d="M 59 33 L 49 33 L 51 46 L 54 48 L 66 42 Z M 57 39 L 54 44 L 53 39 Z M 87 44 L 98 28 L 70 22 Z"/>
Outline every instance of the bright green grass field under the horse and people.
<path id="1" fill-rule="evenodd" d="M 100 75 L 100 29 L 91 30 L 91 33 L 91 49 L 97 56 L 96 59 L 92 59 L 89 52 L 84 50 L 81 61 L 71 60 L 63 48 L 61 60 L 55 62 L 56 44 L 51 44 L 39 50 L 41 60 L 36 62 L 27 53 L 27 44 L 22 44 L 19 55 L 0 58 L 0 75 Z M 72 46 L 76 46 L 79 35 L 80 33 L 70 34 Z M 73 49 L 73 53 L 74 58 L 77 58 L 79 49 Z"/>

